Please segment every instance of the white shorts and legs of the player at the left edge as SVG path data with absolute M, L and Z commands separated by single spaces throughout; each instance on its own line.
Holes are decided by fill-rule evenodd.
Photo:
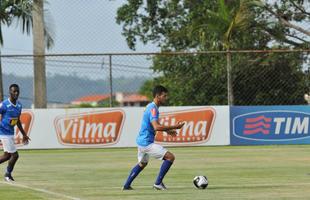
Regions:
M 10 154 L 10 159 L 9 159 L 9 163 L 6 169 L 6 173 L 4 175 L 4 179 L 6 181 L 14 181 L 12 177 L 12 172 L 13 172 L 15 163 L 19 157 L 17 149 L 14 144 L 14 138 L 10 137 L 6 139 L 2 139 L 2 144 L 3 144 L 3 150 L 7 152 L 8 154 Z

